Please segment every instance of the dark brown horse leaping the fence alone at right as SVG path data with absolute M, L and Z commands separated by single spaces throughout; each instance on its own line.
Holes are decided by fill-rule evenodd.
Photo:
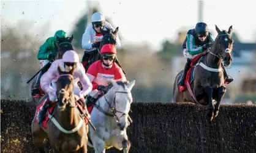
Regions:
M 222 69 L 222 59 L 224 66 L 230 66 L 232 62 L 233 40 L 230 34 L 232 26 L 228 32 L 220 31 L 216 26 L 217 37 L 211 49 L 195 64 L 192 69 L 192 75 L 185 80 L 187 90 L 181 91 L 178 81 L 181 78 L 181 71 L 175 78 L 173 85 L 174 102 L 194 102 L 195 104 L 208 105 L 206 118 L 212 121 L 219 113 L 220 101 L 225 94 L 225 78 Z M 193 61 L 194 62 L 194 61 Z M 189 71 L 187 73 L 189 75 Z M 214 105 L 213 99 L 216 102 Z

